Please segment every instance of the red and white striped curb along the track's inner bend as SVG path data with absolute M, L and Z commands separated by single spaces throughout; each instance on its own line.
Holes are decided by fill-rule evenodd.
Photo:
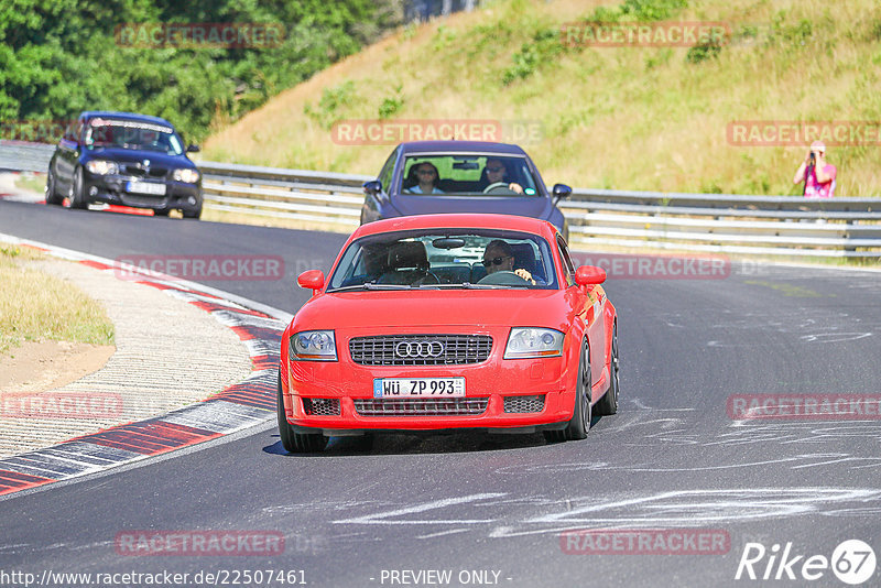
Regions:
M 110 260 L 57 250 L 45 243 L 22 241 L 22 244 L 64 259 L 73 258 L 97 270 L 117 271 Z M 162 277 L 139 279 L 137 283 L 181 298 L 232 329 L 251 357 L 251 375 L 202 402 L 165 415 L 117 425 L 52 447 L 0 459 L 0 496 L 166 454 L 275 416 L 275 368 L 280 357 L 279 341 L 285 327 L 283 320 L 203 292 L 197 284 Z

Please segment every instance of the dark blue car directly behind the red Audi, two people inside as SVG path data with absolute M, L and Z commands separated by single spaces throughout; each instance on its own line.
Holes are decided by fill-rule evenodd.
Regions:
M 420 141 L 398 145 L 377 179 L 365 185 L 361 225 L 436 213 L 499 213 L 551 221 L 567 238 L 556 204 L 572 193 L 548 193 L 539 170 L 516 145 L 478 141 Z

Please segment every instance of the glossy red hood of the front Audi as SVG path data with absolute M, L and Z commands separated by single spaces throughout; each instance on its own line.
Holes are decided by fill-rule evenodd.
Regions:
M 574 318 L 566 298 L 565 291 L 519 288 L 329 293 L 306 303 L 294 328 L 532 326 L 566 331 Z

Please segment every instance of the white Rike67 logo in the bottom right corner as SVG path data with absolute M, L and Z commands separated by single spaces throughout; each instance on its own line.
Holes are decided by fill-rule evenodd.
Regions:
M 761 543 L 747 543 L 740 555 L 735 579 L 814 581 L 833 574 L 842 582 L 858 586 L 871 579 L 875 571 L 874 551 L 860 540 L 841 542 L 831 558 L 825 555 L 796 555 L 792 542 L 781 552 L 775 543 L 770 549 Z

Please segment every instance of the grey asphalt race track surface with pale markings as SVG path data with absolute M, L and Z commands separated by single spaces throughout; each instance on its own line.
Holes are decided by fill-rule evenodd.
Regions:
M 0 202 L 0 232 L 110 259 L 281 255 L 284 280 L 206 283 L 291 313 L 308 297 L 295 275 L 326 271 L 345 240 L 9 202 Z M 325 454 L 303 457 L 285 455 L 268 422 L 0 500 L 0 571 L 168 570 L 189 574 L 186 586 L 224 585 L 193 580 L 224 570 L 229 586 L 244 570 L 292 571 L 287 580 L 326 587 L 846 586 L 830 568 L 803 565 L 831 560 L 845 540 L 881 555 L 877 404 L 864 420 L 738 421 L 727 410 L 738 394 L 881 394 L 881 273 L 732 262 L 724 279 L 612 277 L 606 290 L 620 317 L 621 407 L 595 418 L 585 442 L 335 438 Z M 567 542 L 565 532 L 585 529 L 727 540 L 715 551 L 598 555 L 585 553 L 586 535 Z M 150 530 L 268 532 L 283 535 L 284 548 L 118 553 L 120 534 Z M 757 580 L 743 570 L 735 579 L 746 555 Z M 781 579 L 762 580 L 766 569 Z M 875 569 L 863 585 L 879 584 Z

